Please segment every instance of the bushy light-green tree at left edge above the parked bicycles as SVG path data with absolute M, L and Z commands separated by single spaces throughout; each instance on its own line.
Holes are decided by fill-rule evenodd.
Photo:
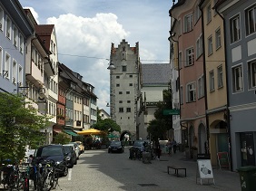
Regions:
M 0 164 L 7 158 L 24 158 L 26 145 L 34 148 L 44 143 L 40 130 L 49 125 L 49 118 L 27 104 L 24 97 L 0 92 Z

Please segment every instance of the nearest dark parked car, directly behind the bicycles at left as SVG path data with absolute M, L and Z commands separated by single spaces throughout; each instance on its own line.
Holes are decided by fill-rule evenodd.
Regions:
M 64 146 L 62 145 L 46 145 L 35 149 L 32 163 L 38 164 L 44 160 L 54 160 L 58 165 L 61 176 L 66 177 L 68 174 L 68 167 L 66 156 L 64 155 Z

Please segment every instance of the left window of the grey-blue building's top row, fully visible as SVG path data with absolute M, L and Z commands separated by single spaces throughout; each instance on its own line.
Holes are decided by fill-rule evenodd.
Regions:
M 240 15 L 237 14 L 230 20 L 231 43 L 237 42 L 241 39 L 240 34 Z

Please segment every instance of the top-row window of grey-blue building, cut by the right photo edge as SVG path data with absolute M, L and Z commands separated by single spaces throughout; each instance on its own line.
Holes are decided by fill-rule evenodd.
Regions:
M 245 10 L 246 35 L 256 32 L 256 5 Z

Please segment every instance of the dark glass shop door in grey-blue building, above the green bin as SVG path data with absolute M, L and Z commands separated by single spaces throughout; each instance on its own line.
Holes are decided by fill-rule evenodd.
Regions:
M 253 133 L 244 132 L 240 134 L 241 139 L 241 166 L 255 166 L 255 153 Z

